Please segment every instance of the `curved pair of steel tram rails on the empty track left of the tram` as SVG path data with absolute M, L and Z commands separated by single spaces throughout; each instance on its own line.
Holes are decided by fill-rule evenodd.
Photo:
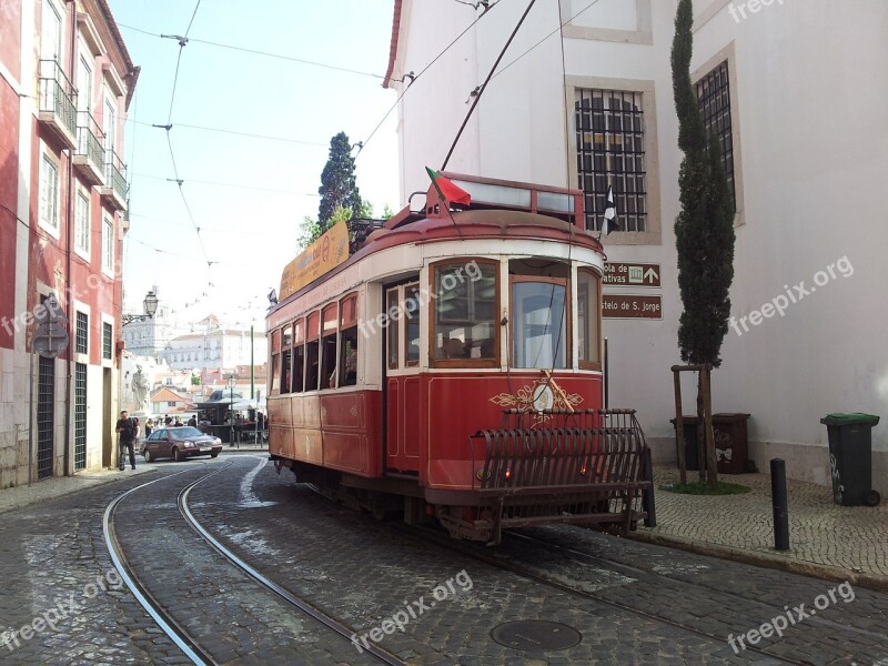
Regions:
M 214 470 L 213 472 L 205 474 L 200 478 L 189 483 L 186 486 L 180 490 L 176 496 L 176 507 L 179 509 L 180 515 L 188 524 L 188 526 L 191 529 L 193 529 L 198 535 L 200 535 L 200 537 L 215 553 L 221 555 L 230 565 L 232 565 L 232 567 L 245 574 L 261 589 L 263 589 L 266 593 L 270 593 L 275 598 L 283 601 L 289 606 L 299 609 L 302 614 L 306 615 L 311 619 L 315 620 L 316 623 L 320 623 L 327 629 L 341 636 L 351 645 L 352 636 L 354 636 L 356 633 L 352 627 L 340 622 L 337 618 L 324 613 L 321 608 L 314 606 L 309 601 L 278 585 L 276 583 L 264 576 L 262 573 L 260 573 L 258 569 L 245 563 L 240 557 L 238 557 L 222 543 L 220 543 L 219 539 L 216 539 L 206 529 L 206 527 L 202 525 L 200 521 L 196 519 L 196 517 L 192 513 L 189 506 L 189 496 L 191 492 L 201 483 L 231 467 L 232 464 L 233 463 L 229 463 L 224 466 L 221 466 Z M 164 605 L 149 592 L 149 588 L 145 585 L 145 583 L 140 579 L 139 575 L 130 565 L 125 556 L 125 553 L 123 552 L 120 539 L 118 538 L 118 533 L 114 528 L 114 513 L 124 498 L 155 483 L 167 481 L 169 478 L 192 471 L 193 470 L 184 470 L 182 472 L 176 472 L 174 474 L 164 476 L 162 478 L 155 478 L 148 483 L 135 486 L 134 488 L 131 488 L 125 493 L 123 493 L 122 495 L 120 495 L 119 497 L 114 498 L 108 505 L 104 512 L 103 535 L 104 535 L 105 547 L 108 548 L 108 552 L 111 556 L 114 567 L 118 569 L 124 585 L 133 594 L 137 602 L 145 609 L 145 612 L 152 617 L 152 619 L 154 619 L 154 622 L 158 624 L 158 627 L 182 650 L 185 657 L 188 657 L 193 664 L 200 666 L 216 666 L 224 662 L 218 660 L 216 658 L 213 657 L 213 655 L 210 653 L 209 649 L 201 646 L 199 640 L 191 635 L 188 627 L 179 623 L 175 619 L 175 617 L 173 617 L 173 615 L 164 607 Z M 377 645 L 371 644 L 364 649 L 364 652 L 367 655 L 371 655 L 377 663 L 389 664 L 390 666 L 404 666 L 406 664 L 405 662 L 400 659 L 396 655 L 385 649 L 382 649 Z

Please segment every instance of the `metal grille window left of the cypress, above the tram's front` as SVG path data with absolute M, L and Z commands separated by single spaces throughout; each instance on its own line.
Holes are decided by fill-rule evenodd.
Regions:
M 577 89 L 574 110 L 579 189 L 586 229 L 598 231 L 614 188 L 619 231 L 647 231 L 643 93 Z

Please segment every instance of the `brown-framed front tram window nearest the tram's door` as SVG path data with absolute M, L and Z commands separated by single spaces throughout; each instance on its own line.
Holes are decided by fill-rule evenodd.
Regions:
M 497 359 L 498 264 L 475 260 L 477 271 L 466 273 L 466 262 L 432 266 L 435 306 L 432 315 L 433 365 L 493 367 Z

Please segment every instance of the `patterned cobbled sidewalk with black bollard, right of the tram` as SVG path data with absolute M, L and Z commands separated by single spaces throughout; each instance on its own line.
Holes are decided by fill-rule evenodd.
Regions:
M 688 481 L 698 478 L 688 472 Z M 888 504 L 838 506 L 833 491 L 787 480 L 789 551 L 774 549 L 767 474 L 719 475 L 749 486 L 743 495 L 700 496 L 660 491 L 678 481 L 675 465 L 655 465 L 657 526 L 632 538 L 888 592 Z

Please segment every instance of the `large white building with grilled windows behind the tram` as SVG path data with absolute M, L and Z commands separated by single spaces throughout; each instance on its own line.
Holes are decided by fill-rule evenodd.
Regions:
M 386 84 L 400 103 L 404 202 L 441 168 L 526 3 L 395 0 Z M 604 322 L 610 406 L 638 408 L 674 460 L 670 365 L 679 363 L 673 225 L 679 210 L 669 53 L 676 0 L 541 0 L 484 90 L 448 171 L 582 186 L 599 224 L 608 182 L 622 230 L 613 262 L 659 264 L 662 319 Z M 888 417 L 882 181 L 888 172 L 884 0 L 695 1 L 693 79 L 719 123 L 736 195 L 735 325 L 713 374 L 714 408 L 748 412 L 759 468 L 830 482 L 830 412 Z M 564 24 L 559 29 L 561 24 Z M 521 57 L 521 58 L 519 58 Z M 405 82 L 401 82 L 404 79 Z M 693 411 L 687 385 L 685 413 Z M 888 493 L 888 427 L 874 430 L 874 485 Z

